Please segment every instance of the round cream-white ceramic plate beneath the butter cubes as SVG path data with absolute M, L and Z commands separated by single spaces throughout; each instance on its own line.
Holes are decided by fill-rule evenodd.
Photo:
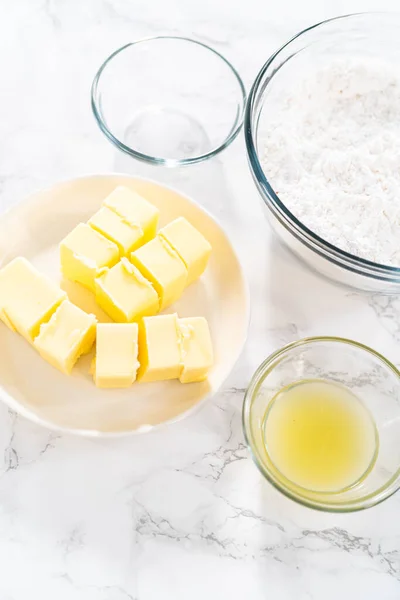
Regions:
M 226 234 L 200 206 L 154 182 L 125 175 L 96 175 L 63 182 L 31 196 L 0 219 L 0 267 L 25 256 L 100 321 L 108 321 L 90 292 L 61 280 L 58 244 L 87 220 L 117 185 L 142 193 L 160 209 L 161 226 L 184 216 L 210 241 L 213 253 L 200 280 L 166 312 L 208 319 L 215 364 L 208 381 L 135 383 L 126 390 L 99 390 L 89 375 L 91 356 L 68 377 L 47 364 L 19 335 L 0 323 L 0 398 L 47 427 L 85 435 L 126 434 L 177 420 L 218 390 L 244 345 L 249 299 L 245 278 Z

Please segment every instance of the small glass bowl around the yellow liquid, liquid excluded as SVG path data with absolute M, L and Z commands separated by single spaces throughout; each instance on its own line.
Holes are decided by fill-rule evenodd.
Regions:
M 379 444 L 365 478 L 339 492 L 307 490 L 287 480 L 272 464 L 263 440 L 270 402 L 284 387 L 306 379 L 338 383 L 353 392 L 372 416 Z M 400 372 L 386 358 L 357 342 L 306 338 L 272 354 L 246 392 L 243 429 L 253 459 L 272 485 L 305 506 L 328 512 L 362 510 L 400 488 Z

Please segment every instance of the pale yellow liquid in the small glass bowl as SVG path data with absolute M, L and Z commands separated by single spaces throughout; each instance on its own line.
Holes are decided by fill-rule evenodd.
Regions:
M 278 392 L 265 414 L 263 435 L 276 469 L 316 492 L 358 483 L 378 449 L 375 424 L 363 403 L 348 389 L 318 379 Z

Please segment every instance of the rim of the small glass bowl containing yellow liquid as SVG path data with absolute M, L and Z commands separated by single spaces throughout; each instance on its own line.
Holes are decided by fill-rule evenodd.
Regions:
M 356 498 L 354 500 L 348 500 L 346 502 L 324 502 L 319 500 L 311 500 L 301 494 L 297 494 L 295 491 L 286 487 L 281 481 L 277 478 L 271 476 L 268 468 L 263 464 L 262 460 L 260 460 L 257 450 L 254 447 L 252 442 L 252 427 L 250 425 L 250 412 L 252 401 L 259 391 L 262 383 L 266 379 L 266 377 L 273 371 L 275 367 L 276 360 L 285 354 L 290 354 L 292 350 L 299 348 L 301 346 L 307 346 L 320 342 L 328 342 L 328 343 L 337 343 L 339 345 L 352 346 L 353 348 L 357 348 L 362 352 L 366 352 L 374 359 L 377 359 L 380 363 L 383 363 L 385 367 L 393 372 L 396 378 L 399 381 L 400 385 L 400 370 L 391 363 L 383 354 L 380 354 L 376 350 L 373 350 L 369 346 L 357 342 L 355 340 L 351 340 L 348 338 L 336 337 L 336 336 L 313 336 L 306 337 L 295 342 L 291 342 L 290 344 L 286 344 L 279 350 L 276 350 L 272 354 L 270 354 L 257 368 L 255 373 L 253 374 L 250 383 L 245 392 L 243 407 L 242 407 L 242 428 L 243 434 L 245 437 L 247 448 L 250 452 L 251 458 L 253 462 L 257 466 L 258 470 L 261 474 L 267 479 L 267 481 L 279 492 L 284 494 L 287 498 L 294 500 L 295 502 L 306 506 L 308 508 L 313 508 L 316 510 L 320 510 L 322 512 L 332 512 L 332 513 L 347 513 L 347 512 L 355 512 L 359 510 L 364 510 L 366 508 L 370 508 L 379 504 L 390 498 L 393 494 L 395 494 L 400 489 L 400 465 L 394 475 L 390 477 L 390 479 L 382 485 L 380 488 L 371 492 L 369 494 L 365 494 L 360 498 Z M 397 481 L 397 483 L 396 483 Z M 394 484 L 394 485 L 393 485 Z M 393 487 L 392 487 L 393 486 Z

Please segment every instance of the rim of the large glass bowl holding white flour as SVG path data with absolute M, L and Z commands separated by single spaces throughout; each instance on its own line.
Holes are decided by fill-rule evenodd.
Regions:
M 279 218 L 283 221 L 283 225 L 286 227 L 286 229 L 289 229 L 292 235 L 299 239 L 313 252 L 316 252 L 323 258 L 327 259 L 329 262 L 339 267 L 342 267 L 348 271 L 359 275 L 361 274 L 365 277 L 369 277 L 374 280 L 381 280 L 390 283 L 400 284 L 400 267 L 393 267 L 378 262 L 370 261 L 368 259 L 356 256 L 355 254 L 346 252 L 341 248 L 338 248 L 334 244 L 331 244 L 327 240 L 317 235 L 314 231 L 309 229 L 287 208 L 287 206 L 280 200 L 278 195 L 275 193 L 272 185 L 268 181 L 261 167 L 261 163 L 258 158 L 258 152 L 256 149 L 258 119 L 254 130 L 252 124 L 255 106 L 257 104 L 260 88 L 263 86 L 264 83 L 265 74 L 267 73 L 268 69 L 273 66 L 275 60 L 279 58 L 280 54 L 285 49 L 290 47 L 290 45 L 293 42 L 295 42 L 297 38 L 306 36 L 309 32 L 313 31 L 314 29 L 322 29 L 325 25 L 331 22 L 336 22 L 340 20 L 350 21 L 351 19 L 357 19 L 360 17 L 376 18 L 377 16 L 386 16 L 390 18 L 395 17 L 397 18 L 397 20 L 399 19 L 398 13 L 393 13 L 389 11 L 358 12 L 347 15 L 341 15 L 338 17 L 325 19 L 324 21 L 320 21 L 319 23 L 316 23 L 314 25 L 311 25 L 310 27 L 303 29 L 302 31 L 294 35 L 292 38 L 290 38 L 287 42 L 285 42 L 285 44 L 283 44 L 280 48 L 278 48 L 278 50 L 276 50 L 261 67 L 250 89 L 244 116 L 244 137 L 250 170 L 253 179 L 256 182 L 256 186 L 260 192 L 260 195 L 268 208 L 271 208 L 270 204 L 272 205 L 272 208 L 275 211 L 274 215 L 277 217 L 276 213 L 278 213 Z M 287 60 L 290 60 L 290 58 L 292 57 L 293 55 L 291 55 Z M 285 62 L 287 62 L 287 60 Z M 276 70 L 276 72 L 278 71 L 279 68 Z M 273 73 L 273 75 L 275 75 L 275 72 Z M 270 81 L 268 81 L 268 83 L 265 85 L 264 89 L 268 87 L 268 85 L 270 85 L 272 79 L 273 76 L 271 77 Z

